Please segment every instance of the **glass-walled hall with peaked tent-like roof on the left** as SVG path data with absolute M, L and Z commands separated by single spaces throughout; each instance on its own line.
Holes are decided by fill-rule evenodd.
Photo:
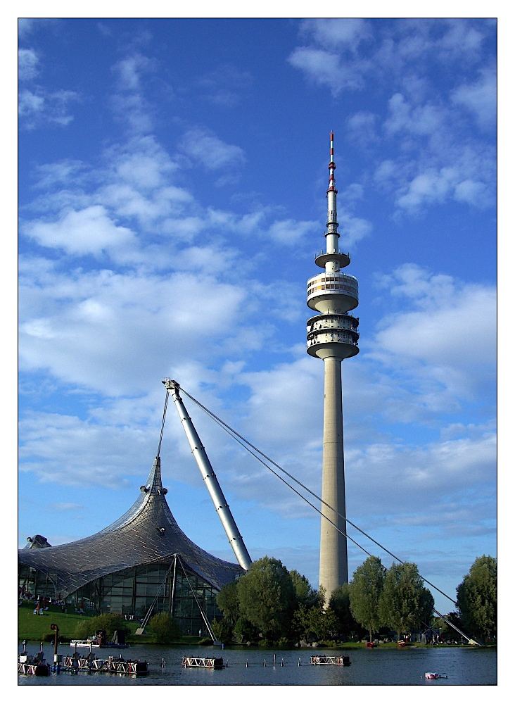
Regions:
M 153 612 L 170 613 L 184 635 L 204 634 L 199 605 L 212 621 L 218 615 L 217 591 L 243 570 L 189 540 L 166 493 L 155 458 L 139 498 L 103 531 L 61 546 L 34 536 L 18 551 L 20 591 L 87 613 L 117 612 L 134 620 L 144 618 L 155 602 Z

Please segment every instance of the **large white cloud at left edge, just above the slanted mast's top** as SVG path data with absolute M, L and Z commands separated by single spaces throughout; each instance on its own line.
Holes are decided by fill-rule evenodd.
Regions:
M 67 384 L 114 395 L 148 389 L 156 373 L 183 358 L 210 365 L 236 349 L 241 356 L 265 334 L 248 338 L 250 294 L 212 273 L 48 271 L 39 279 L 30 272 L 20 272 L 27 302 L 20 310 L 20 365 L 49 370 Z

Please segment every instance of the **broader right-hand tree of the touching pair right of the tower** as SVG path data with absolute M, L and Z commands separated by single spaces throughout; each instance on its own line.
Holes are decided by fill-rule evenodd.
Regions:
M 433 595 L 424 587 L 417 565 L 405 562 L 390 567 L 379 597 L 379 617 L 397 631 L 398 638 L 402 632 L 428 624 L 433 606 Z

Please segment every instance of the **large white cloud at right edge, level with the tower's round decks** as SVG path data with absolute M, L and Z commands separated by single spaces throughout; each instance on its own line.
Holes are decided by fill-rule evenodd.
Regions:
M 405 265 L 383 278 L 383 288 L 412 303 L 383 320 L 374 337 L 373 358 L 411 372 L 409 383 L 422 389 L 428 380 L 440 401 L 455 403 L 481 393 L 495 376 L 495 287 L 463 284 Z M 438 394 L 429 403 L 439 403 Z

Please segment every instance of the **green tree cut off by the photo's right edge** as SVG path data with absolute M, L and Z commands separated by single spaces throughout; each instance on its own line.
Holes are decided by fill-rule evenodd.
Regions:
M 497 560 L 476 558 L 456 590 L 457 605 L 466 629 L 481 639 L 497 635 Z

